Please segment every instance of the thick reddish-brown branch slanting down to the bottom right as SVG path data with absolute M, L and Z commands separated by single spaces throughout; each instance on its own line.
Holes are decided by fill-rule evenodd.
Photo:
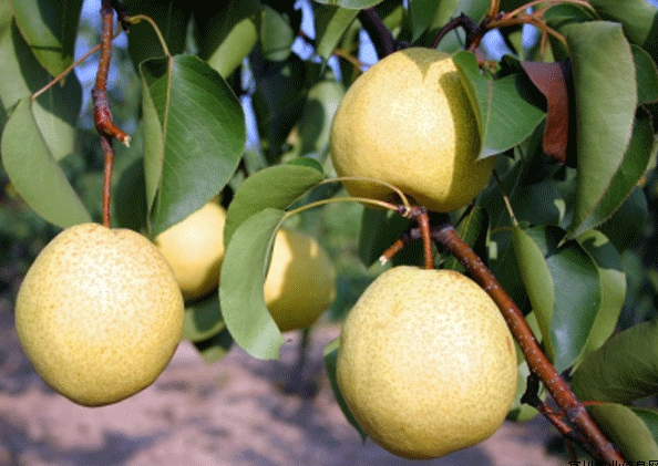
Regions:
M 441 244 L 469 271 L 470 276 L 492 297 L 510 327 L 512 334 L 527 361 L 531 371 L 544 383 L 567 420 L 587 441 L 587 447 L 595 457 L 609 465 L 624 464 L 624 458 L 605 437 L 578 401 L 565 380 L 546 358 L 537 343 L 527 321 L 512 298 L 505 292 L 482 259 L 464 242 L 449 221 L 432 229 L 432 239 Z M 554 416 L 553 416 L 554 417 Z M 552 416 L 548 417 L 551 421 Z

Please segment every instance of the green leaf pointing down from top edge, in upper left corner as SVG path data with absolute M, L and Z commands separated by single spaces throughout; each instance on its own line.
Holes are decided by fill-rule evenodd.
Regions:
M 73 63 L 82 0 L 12 0 L 16 22 L 29 48 L 56 76 Z

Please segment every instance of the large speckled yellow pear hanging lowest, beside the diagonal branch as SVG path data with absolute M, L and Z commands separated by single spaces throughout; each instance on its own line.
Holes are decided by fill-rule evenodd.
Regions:
M 402 457 L 439 457 L 490 437 L 516 377 L 514 340 L 496 304 L 455 271 L 383 272 L 341 331 L 340 392 L 363 431 Z

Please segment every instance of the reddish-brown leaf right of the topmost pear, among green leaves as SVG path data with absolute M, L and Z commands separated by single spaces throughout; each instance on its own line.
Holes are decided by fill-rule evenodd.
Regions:
M 566 62 L 522 62 L 525 73 L 547 102 L 544 152 L 559 163 L 566 160 L 569 134 L 569 95 Z

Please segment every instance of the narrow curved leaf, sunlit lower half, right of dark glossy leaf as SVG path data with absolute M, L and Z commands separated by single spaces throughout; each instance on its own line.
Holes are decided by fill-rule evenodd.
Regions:
M 592 324 L 587 343 L 575 366 L 587 354 L 606 342 L 615 331 L 626 298 L 626 275 L 621 257 L 613 244 L 599 231 L 590 230 L 577 238 L 584 251 L 596 265 L 600 302 Z

